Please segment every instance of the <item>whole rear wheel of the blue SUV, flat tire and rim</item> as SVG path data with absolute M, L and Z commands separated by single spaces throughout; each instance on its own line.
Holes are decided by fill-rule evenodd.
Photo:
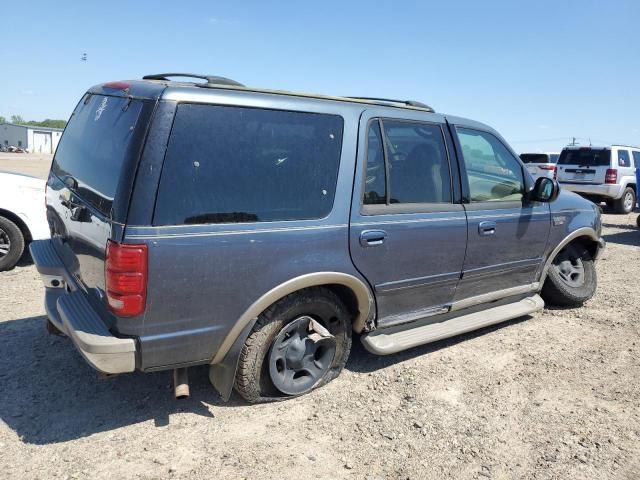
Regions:
M 250 403 L 281 400 L 322 386 L 351 350 L 351 318 L 331 290 L 314 287 L 278 301 L 256 322 L 238 363 L 235 389 Z

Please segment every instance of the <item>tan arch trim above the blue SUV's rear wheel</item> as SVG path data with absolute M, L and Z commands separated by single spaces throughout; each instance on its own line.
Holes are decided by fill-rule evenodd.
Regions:
M 222 341 L 211 364 L 221 363 L 247 325 L 278 300 L 305 288 L 336 284 L 343 285 L 354 293 L 358 304 L 358 313 L 353 321 L 353 331 L 361 332 L 364 330 L 365 323 L 370 315 L 375 311 L 373 294 L 364 281 L 342 272 L 308 273 L 281 283 L 253 302 L 238 318 L 231 331 Z

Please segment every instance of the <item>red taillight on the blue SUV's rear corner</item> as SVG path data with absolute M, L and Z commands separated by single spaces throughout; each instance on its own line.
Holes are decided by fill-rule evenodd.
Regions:
M 147 302 L 147 246 L 107 242 L 105 260 L 107 302 L 120 317 L 144 312 Z

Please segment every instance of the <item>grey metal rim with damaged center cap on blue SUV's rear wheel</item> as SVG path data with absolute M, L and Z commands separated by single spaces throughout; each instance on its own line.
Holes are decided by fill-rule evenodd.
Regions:
M 287 324 L 269 353 L 269 376 L 287 395 L 311 390 L 327 373 L 336 353 L 336 339 L 308 315 Z

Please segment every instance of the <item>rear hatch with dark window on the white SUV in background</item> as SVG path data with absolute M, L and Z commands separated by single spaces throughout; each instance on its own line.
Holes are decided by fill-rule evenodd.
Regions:
M 558 159 L 558 181 L 601 185 L 611 165 L 607 148 L 565 148 Z

